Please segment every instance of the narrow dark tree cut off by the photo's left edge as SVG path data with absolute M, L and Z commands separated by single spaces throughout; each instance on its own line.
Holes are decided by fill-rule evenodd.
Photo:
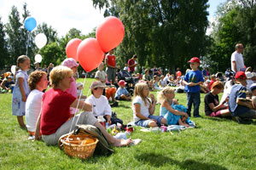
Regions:
M 0 17 L 0 69 L 3 69 L 8 64 L 9 54 L 7 50 L 7 42 L 4 32 L 4 27 Z

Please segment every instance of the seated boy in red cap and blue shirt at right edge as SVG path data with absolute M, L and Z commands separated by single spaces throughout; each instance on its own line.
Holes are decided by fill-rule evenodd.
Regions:
M 247 96 L 247 77 L 243 71 L 236 72 L 236 84 L 230 92 L 229 109 L 231 116 L 235 116 L 237 122 L 243 118 L 256 118 L 252 102 L 244 102 Z

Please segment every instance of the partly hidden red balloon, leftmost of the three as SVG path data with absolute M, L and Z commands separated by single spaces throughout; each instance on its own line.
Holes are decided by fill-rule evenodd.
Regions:
M 78 61 L 78 56 L 77 56 L 77 50 L 79 47 L 79 44 L 82 42 L 79 38 L 73 38 L 69 42 L 67 42 L 66 46 L 66 54 L 67 58 L 73 58 L 76 61 Z

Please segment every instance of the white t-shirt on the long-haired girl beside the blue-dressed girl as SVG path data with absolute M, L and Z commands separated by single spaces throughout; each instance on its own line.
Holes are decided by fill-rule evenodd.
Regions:
M 149 98 L 148 98 L 149 99 Z M 150 102 L 151 102 L 151 99 L 149 99 Z M 145 105 L 143 99 L 140 97 L 140 96 L 136 96 L 133 100 L 132 100 L 132 111 L 133 111 L 133 121 L 134 122 L 138 122 L 139 120 L 141 120 L 140 118 L 138 118 L 136 115 L 135 115 L 135 107 L 134 107 L 134 104 L 139 104 L 141 105 L 141 109 L 140 109 L 140 112 L 143 116 L 146 116 L 148 117 L 149 116 L 149 103 L 147 101 L 147 105 Z

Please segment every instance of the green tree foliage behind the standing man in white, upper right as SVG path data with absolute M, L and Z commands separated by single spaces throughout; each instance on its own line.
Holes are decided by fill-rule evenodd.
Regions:
M 245 65 L 256 67 L 256 5 L 253 0 L 233 0 L 218 8 L 210 57 L 218 63 L 218 71 L 230 67 L 230 57 L 236 43 L 245 46 L 243 58 Z

